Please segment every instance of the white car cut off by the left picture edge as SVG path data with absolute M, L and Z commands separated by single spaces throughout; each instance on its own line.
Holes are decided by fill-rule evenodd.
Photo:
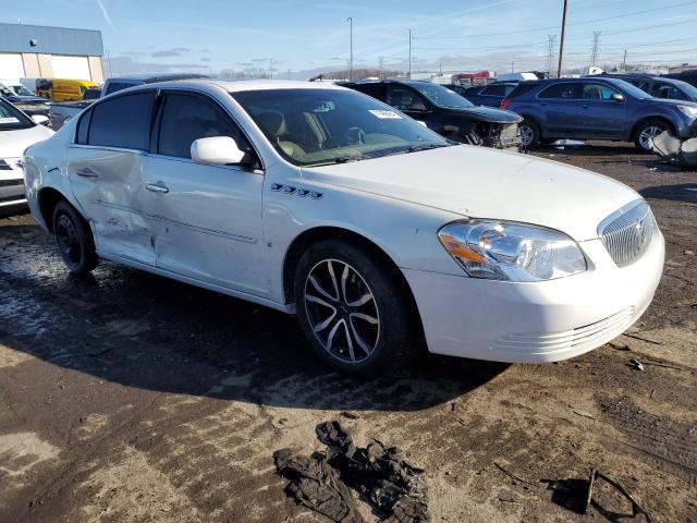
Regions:
M 0 100 L 0 217 L 26 208 L 24 175 L 20 165 L 29 145 L 48 138 L 53 131 L 41 123 L 48 118 L 29 118 L 11 104 Z

